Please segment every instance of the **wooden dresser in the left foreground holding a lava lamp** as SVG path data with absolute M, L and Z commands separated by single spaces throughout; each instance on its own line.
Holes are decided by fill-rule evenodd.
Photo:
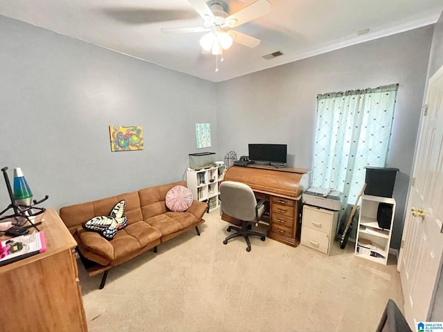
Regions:
M 0 330 L 87 331 L 77 243 L 55 210 L 46 210 L 35 222 L 42 218 L 37 227 L 44 231 L 46 252 L 0 267 Z

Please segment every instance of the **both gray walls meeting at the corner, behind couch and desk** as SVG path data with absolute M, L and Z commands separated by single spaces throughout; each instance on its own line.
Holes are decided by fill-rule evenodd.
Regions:
M 188 154 L 222 160 L 249 142 L 286 143 L 291 164 L 311 168 L 318 93 L 399 83 L 388 159 L 401 170 L 399 248 L 432 26 L 218 84 L 1 16 L 0 31 L 0 167 L 11 180 L 21 167 L 53 208 L 180 180 Z M 196 149 L 195 122 L 211 124 L 213 147 Z M 143 126 L 145 149 L 111 152 L 109 124 Z

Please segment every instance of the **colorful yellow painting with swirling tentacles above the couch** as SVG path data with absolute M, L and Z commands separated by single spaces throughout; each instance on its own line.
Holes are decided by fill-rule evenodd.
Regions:
M 143 150 L 143 129 L 139 126 L 109 126 L 111 151 Z

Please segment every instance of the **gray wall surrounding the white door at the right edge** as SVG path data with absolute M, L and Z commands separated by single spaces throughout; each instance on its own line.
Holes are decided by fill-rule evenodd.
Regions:
M 440 15 L 434 28 L 432 39 L 431 56 L 429 57 L 428 79 L 443 66 L 443 14 Z M 440 281 L 437 284 L 435 302 L 431 311 L 432 322 L 443 321 L 443 266 L 440 271 Z

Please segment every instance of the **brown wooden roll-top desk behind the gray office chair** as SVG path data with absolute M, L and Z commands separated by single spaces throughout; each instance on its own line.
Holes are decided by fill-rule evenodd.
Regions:
M 267 237 L 296 247 L 300 243 L 301 194 L 311 182 L 309 169 L 248 165 L 229 167 L 225 181 L 246 183 L 257 199 L 270 202 Z M 237 223 L 223 214 L 221 219 Z

